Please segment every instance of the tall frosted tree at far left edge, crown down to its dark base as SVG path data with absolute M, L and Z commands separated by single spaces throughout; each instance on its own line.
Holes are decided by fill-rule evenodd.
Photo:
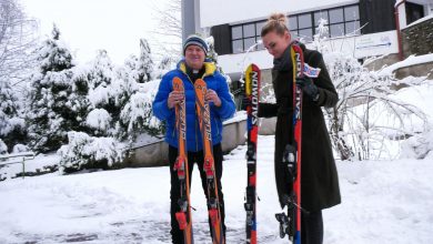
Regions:
M 26 142 L 23 100 L 36 21 L 27 19 L 17 0 L 0 0 L 0 148 Z M 0 151 L 4 151 L 1 150 Z

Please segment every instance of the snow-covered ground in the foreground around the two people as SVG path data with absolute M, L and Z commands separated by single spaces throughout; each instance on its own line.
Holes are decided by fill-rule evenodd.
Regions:
M 273 136 L 259 139 L 260 243 L 278 237 Z M 245 148 L 225 155 L 228 243 L 243 243 Z M 433 163 L 338 162 L 343 203 L 324 211 L 326 244 L 433 243 Z M 211 243 L 194 169 L 195 243 Z M 124 169 L 0 182 L 0 243 L 169 243 L 169 169 Z

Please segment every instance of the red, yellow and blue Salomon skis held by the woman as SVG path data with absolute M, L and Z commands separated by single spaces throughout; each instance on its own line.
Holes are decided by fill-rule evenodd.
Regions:
M 302 140 L 302 90 L 295 84 L 304 75 L 303 52 L 299 44 L 291 44 L 293 63 L 293 143 L 288 144 L 282 163 L 286 165 L 292 191 L 283 197 L 288 213 L 275 214 L 280 223 L 280 237 L 285 235 L 294 244 L 301 244 L 301 140 Z M 246 211 L 246 243 L 256 243 L 256 146 L 259 131 L 260 69 L 250 64 L 245 72 L 246 105 L 246 167 L 248 182 L 244 207 Z

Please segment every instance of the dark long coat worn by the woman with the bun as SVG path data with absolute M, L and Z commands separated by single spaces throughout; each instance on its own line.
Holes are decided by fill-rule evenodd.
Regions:
M 302 170 L 301 205 L 308 211 L 319 211 L 341 202 L 338 172 L 332 154 L 331 141 L 321 106 L 334 106 L 339 95 L 332 84 L 322 54 L 304 50 L 304 61 L 313 68 L 320 68 L 319 78 L 313 79 L 319 88 L 319 101 L 313 102 L 304 95 L 302 103 Z M 272 83 L 276 104 L 260 103 L 259 116 L 276 116 L 274 167 L 276 189 L 280 196 L 291 191 L 286 166 L 282 163 L 285 145 L 291 141 L 293 128 L 293 64 L 290 47 L 281 59 L 274 60 Z M 283 204 L 282 204 L 283 205 Z

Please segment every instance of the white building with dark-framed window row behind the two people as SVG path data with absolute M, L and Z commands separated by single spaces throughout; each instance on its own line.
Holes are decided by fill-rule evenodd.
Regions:
M 239 80 L 250 62 L 272 68 L 272 57 L 256 43 L 273 12 L 285 13 L 292 35 L 308 47 L 319 20 L 326 20 L 330 47 L 362 60 L 399 53 L 399 30 L 433 14 L 433 0 L 182 0 L 182 12 L 189 12 L 182 18 L 193 24 L 190 31 L 213 35 L 219 64 Z

